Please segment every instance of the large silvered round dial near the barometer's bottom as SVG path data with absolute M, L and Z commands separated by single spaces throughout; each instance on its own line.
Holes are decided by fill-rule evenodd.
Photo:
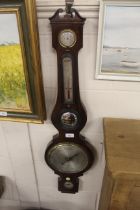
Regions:
M 49 165 L 61 173 L 79 173 L 88 165 L 88 155 L 78 144 L 59 143 L 50 149 Z

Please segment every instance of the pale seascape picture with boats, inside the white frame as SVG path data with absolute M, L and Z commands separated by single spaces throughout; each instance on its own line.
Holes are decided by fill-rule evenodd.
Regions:
M 101 71 L 140 74 L 140 6 L 106 6 Z

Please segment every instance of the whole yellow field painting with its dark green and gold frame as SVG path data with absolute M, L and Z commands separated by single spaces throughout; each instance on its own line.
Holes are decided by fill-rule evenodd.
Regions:
M 35 0 L 0 0 L 0 120 L 46 118 Z

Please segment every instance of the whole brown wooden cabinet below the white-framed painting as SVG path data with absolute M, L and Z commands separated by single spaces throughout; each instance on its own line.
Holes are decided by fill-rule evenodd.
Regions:
M 140 210 L 140 121 L 105 118 L 104 135 L 99 210 Z

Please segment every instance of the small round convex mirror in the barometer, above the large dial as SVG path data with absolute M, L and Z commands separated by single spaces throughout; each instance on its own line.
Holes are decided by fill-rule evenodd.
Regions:
M 74 127 L 77 124 L 77 116 L 72 112 L 65 112 L 61 116 L 61 122 L 63 125 Z

